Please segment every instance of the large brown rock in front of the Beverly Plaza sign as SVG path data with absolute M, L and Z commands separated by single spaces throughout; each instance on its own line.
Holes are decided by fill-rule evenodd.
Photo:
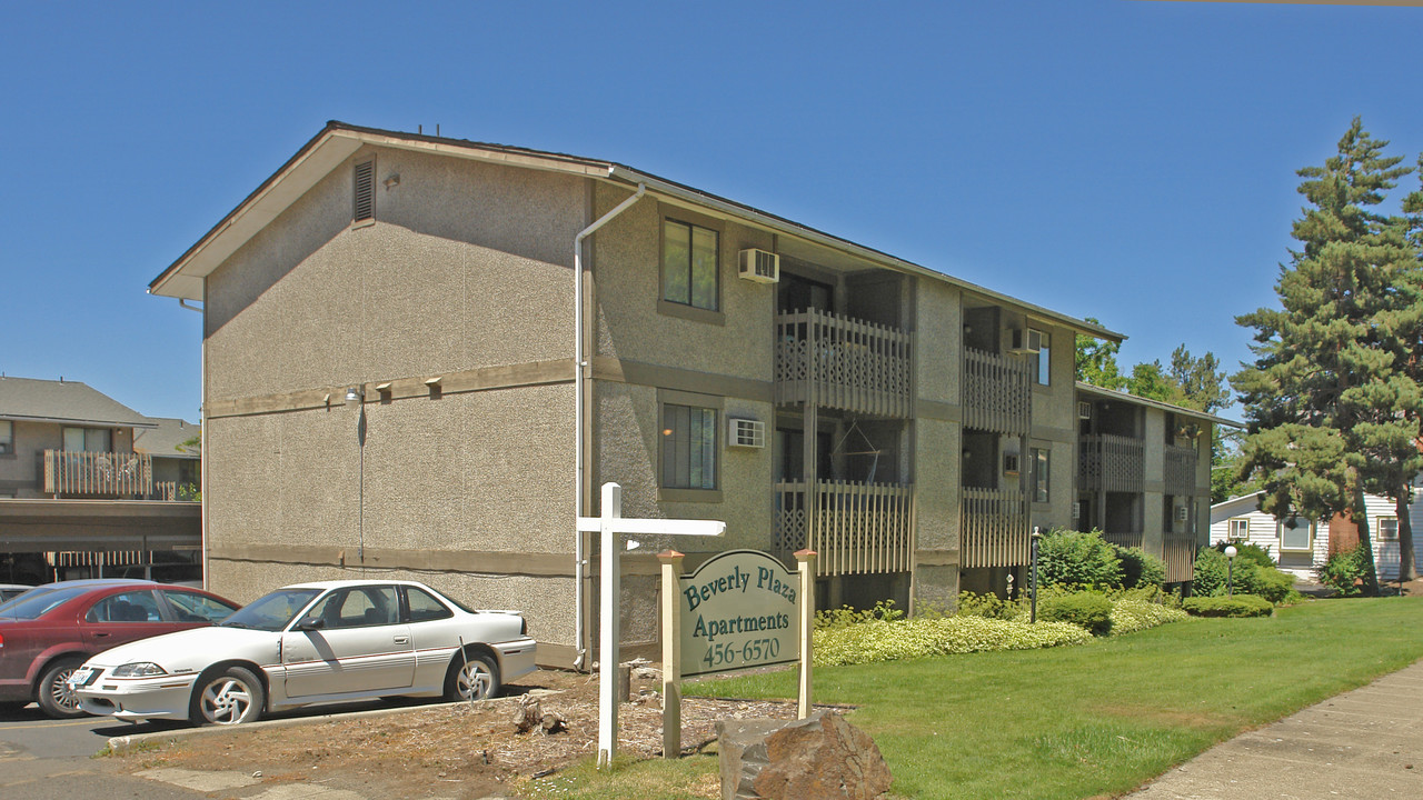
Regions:
M 716 723 L 721 800 L 872 800 L 889 767 L 862 730 L 834 712 Z

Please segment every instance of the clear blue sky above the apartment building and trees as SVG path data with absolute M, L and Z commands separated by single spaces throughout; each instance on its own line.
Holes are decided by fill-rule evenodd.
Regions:
M 198 419 L 145 293 L 327 120 L 629 164 L 1234 370 L 1295 169 L 1423 149 L 1423 9 L 0 0 L 0 370 Z M 1395 192 L 1417 188 L 1409 177 Z

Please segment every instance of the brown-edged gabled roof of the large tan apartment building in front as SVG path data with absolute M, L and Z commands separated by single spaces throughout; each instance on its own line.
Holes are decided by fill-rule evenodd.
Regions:
M 296 202 L 296 199 L 300 198 L 307 189 L 314 186 L 317 181 L 324 178 L 332 169 L 343 164 L 346 158 L 367 144 L 505 164 L 529 169 L 583 175 L 626 188 L 633 188 L 642 184 L 646 185 L 649 194 L 657 196 L 663 202 L 724 215 L 739 219 L 747 225 L 768 229 L 787 236 L 790 241 L 783 241 L 783 249 L 787 246 L 795 248 L 797 243 L 828 248 L 834 253 L 842 253 L 847 260 L 858 262 L 862 259 L 896 272 L 941 280 L 985 299 L 1023 309 L 1030 317 L 1054 322 L 1089 336 L 1109 339 L 1113 342 L 1121 342 L 1126 339 L 1124 335 L 1109 330 L 1100 325 L 1044 309 L 1017 298 L 969 283 L 968 280 L 961 280 L 914 262 L 891 256 L 874 248 L 858 245 L 832 233 L 825 233 L 824 231 L 800 225 L 783 216 L 777 216 L 684 184 L 659 178 L 649 172 L 613 161 L 490 142 L 475 142 L 470 140 L 453 140 L 423 134 L 384 131 L 380 128 L 364 128 L 339 121 L 327 122 L 326 127 L 316 134 L 316 137 L 307 141 L 296 152 L 296 155 L 287 159 L 287 162 L 263 181 L 256 191 L 248 195 L 246 199 L 223 216 L 211 231 L 208 231 L 208 233 L 188 248 L 188 251 L 179 256 L 178 260 L 155 278 L 148 285 L 148 292 L 166 298 L 201 300 L 203 278 L 211 275 L 212 270 L 215 270 L 228 256 L 236 252 L 238 248 L 262 231 L 269 222 L 276 219 L 277 215 L 286 211 L 286 208 Z M 572 242 L 569 242 L 569 248 L 572 248 Z M 828 266 L 840 265 L 832 263 Z

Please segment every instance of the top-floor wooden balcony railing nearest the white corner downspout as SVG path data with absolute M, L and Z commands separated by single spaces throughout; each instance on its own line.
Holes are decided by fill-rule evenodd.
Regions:
M 776 401 L 908 417 L 909 335 L 815 309 L 780 315 Z

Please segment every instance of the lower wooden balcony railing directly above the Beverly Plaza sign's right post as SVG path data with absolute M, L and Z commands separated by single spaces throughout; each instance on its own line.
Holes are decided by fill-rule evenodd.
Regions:
M 776 544 L 784 552 L 820 554 L 815 574 L 908 572 L 914 487 L 817 481 L 776 484 Z

